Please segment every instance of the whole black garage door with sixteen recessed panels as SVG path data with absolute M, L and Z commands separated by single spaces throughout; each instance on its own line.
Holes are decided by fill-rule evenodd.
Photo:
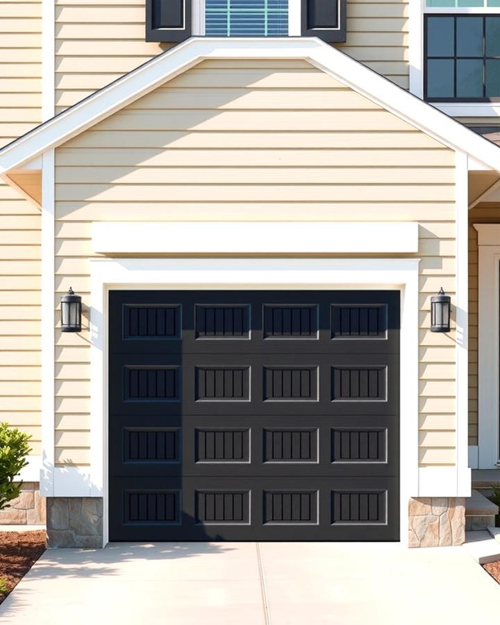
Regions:
M 399 540 L 399 292 L 109 310 L 110 540 Z

